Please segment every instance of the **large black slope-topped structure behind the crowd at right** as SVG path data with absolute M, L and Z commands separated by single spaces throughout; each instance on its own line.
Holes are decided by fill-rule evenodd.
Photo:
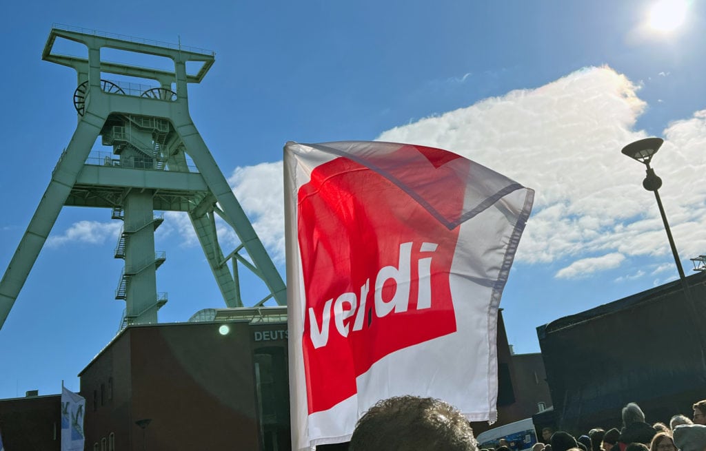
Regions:
M 706 273 L 686 283 L 703 311 Z M 690 414 L 706 389 L 706 329 L 693 328 L 690 311 L 675 280 L 539 326 L 556 427 L 620 428 L 628 402 L 638 402 L 651 423 Z

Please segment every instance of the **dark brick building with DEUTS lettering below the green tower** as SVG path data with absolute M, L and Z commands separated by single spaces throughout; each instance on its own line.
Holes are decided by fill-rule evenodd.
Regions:
M 289 449 L 287 324 L 218 311 L 128 327 L 88 364 L 87 450 Z

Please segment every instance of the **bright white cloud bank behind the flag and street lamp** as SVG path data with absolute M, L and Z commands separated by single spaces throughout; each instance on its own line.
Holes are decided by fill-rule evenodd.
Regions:
M 615 268 L 626 257 L 669 261 L 654 196 L 642 188 L 645 168 L 620 152 L 645 137 L 634 130 L 647 107 L 638 92 L 638 85 L 611 68 L 585 68 L 537 89 L 393 128 L 378 140 L 448 149 L 532 187 L 534 210 L 518 262 L 575 260 L 556 274 L 568 278 Z M 669 124 L 664 137 L 652 167 L 664 180 L 660 194 L 676 244 L 685 257 L 703 254 L 706 110 Z M 270 255 L 284 261 L 282 162 L 236 168 L 229 183 Z M 195 245 L 188 217 L 177 216 L 177 230 Z M 224 224 L 218 228 L 224 250 L 237 243 Z

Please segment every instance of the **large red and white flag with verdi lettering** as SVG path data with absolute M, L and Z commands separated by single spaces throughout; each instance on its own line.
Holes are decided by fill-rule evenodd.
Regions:
M 292 449 L 395 395 L 495 421 L 498 305 L 534 192 L 451 152 L 285 146 Z

